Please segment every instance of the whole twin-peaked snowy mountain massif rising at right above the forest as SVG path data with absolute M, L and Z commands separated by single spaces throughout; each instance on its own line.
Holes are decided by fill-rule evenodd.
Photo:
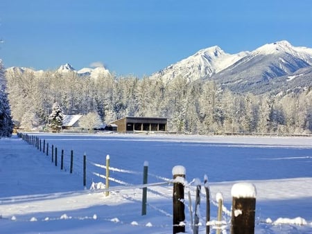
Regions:
M 225 53 L 220 47 L 203 49 L 176 64 L 150 76 L 170 82 L 178 76 L 195 80 L 215 80 L 222 87 L 232 91 L 262 93 L 272 91 L 277 83 L 280 86 L 297 85 L 298 82 L 287 82 L 300 69 L 312 66 L 312 48 L 292 46 L 287 41 L 265 44 L 251 52 L 234 55 Z M 305 71 L 305 70 L 304 70 Z M 304 84 L 311 86 L 311 73 L 304 75 Z M 295 87 L 293 87 L 295 89 Z

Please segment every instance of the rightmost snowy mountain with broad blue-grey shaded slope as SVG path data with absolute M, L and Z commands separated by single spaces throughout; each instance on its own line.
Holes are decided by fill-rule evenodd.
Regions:
M 259 93 L 261 86 L 272 89 L 276 78 L 291 75 L 312 65 L 312 53 L 286 41 L 266 44 L 212 78 L 232 91 Z

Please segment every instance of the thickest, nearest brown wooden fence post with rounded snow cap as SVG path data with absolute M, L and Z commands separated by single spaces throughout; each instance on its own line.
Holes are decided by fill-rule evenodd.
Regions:
M 232 194 L 232 234 L 253 234 L 256 188 L 252 183 L 235 183 Z

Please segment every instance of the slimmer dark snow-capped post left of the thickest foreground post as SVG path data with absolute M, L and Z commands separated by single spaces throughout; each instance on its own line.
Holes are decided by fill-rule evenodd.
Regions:
M 182 165 L 175 165 L 173 174 L 173 234 L 185 233 L 184 182 L 186 170 Z

